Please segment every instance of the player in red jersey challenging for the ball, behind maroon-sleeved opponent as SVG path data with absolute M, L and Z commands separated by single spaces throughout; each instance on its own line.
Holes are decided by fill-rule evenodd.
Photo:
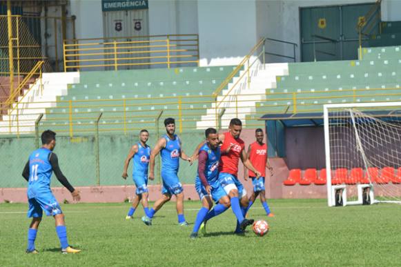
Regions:
M 239 138 L 241 131 L 242 121 L 235 118 L 231 119 L 230 125 L 228 126 L 228 132 L 219 135 L 219 141 L 222 143 L 222 146 L 220 147 L 222 157 L 219 164 L 219 183 L 226 191 L 228 197 L 230 197 L 231 208 L 238 220 L 235 233 L 243 233 L 246 226 L 253 224 L 253 219 L 245 218 L 246 210 L 248 210 L 248 197 L 244 186 L 242 186 L 237 178 L 239 159 L 242 160 L 242 163 L 246 168 L 255 172 L 256 177 L 260 177 L 260 173 L 253 167 L 251 161 L 246 157 L 244 141 Z M 194 156 L 198 154 L 199 148 L 203 146 L 203 144 L 203 142 L 202 144 L 199 144 L 197 150 L 195 150 Z M 218 215 L 218 212 L 215 212 L 215 210 L 211 210 L 209 213 L 210 214 L 206 215 L 204 224 L 201 226 L 203 232 L 206 221 Z

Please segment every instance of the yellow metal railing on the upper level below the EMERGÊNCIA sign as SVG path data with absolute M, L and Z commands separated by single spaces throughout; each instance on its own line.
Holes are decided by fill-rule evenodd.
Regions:
M 64 71 L 121 70 L 199 65 L 198 34 L 69 39 L 63 43 Z

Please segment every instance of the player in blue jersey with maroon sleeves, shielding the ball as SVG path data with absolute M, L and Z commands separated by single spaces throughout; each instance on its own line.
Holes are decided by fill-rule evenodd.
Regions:
M 213 207 L 213 201 L 217 204 L 214 210 L 218 210 L 219 214 L 230 208 L 230 199 L 219 184 L 219 135 L 215 128 L 206 129 L 205 135 L 206 143 L 199 149 L 195 178 L 195 189 L 202 201 L 202 208 L 197 213 L 190 239 L 196 239 L 199 227 Z

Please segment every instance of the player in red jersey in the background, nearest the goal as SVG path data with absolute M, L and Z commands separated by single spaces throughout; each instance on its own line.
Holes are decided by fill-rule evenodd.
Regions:
M 253 194 L 249 198 L 248 209 L 251 208 L 253 202 L 257 196 L 260 196 L 260 201 L 262 202 L 262 206 L 266 211 L 266 215 L 268 217 L 274 217 L 273 213 L 270 211 L 268 204 L 266 202 L 265 190 L 264 190 L 264 177 L 266 177 L 266 168 L 268 168 L 270 172 L 270 176 L 273 176 L 273 168 L 270 166 L 267 157 L 267 144 L 263 143 L 264 134 L 263 130 L 258 128 L 255 131 L 256 141 L 253 142 L 248 147 L 247 159 L 251 161 L 253 166 L 255 166 L 256 170 L 260 172 L 260 177 L 257 178 L 255 172 L 252 170 L 248 170 L 246 167 L 244 168 L 244 179 L 248 181 L 246 177 L 252 179 L 253 184 Z

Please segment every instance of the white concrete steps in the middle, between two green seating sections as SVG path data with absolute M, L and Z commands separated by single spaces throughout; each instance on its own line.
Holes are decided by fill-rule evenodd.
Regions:
M 231 90 L 242 75 L 244 75 L 243 79 Z M 217 97 L 217 112 L 225 108 L 222 127 L 228 127 L 228 123 L 233 117 L 244 120 L 246 114 L 255 112 L 255 103 L 265 99 L 266 88 L 276 87 L 278 75 L 288 75 L 288 63 L 265 64 L 251 68 L 251 83 L 248 88 L 247 75 L 244 70 L 241 70 L 238 77 L 235 77 L 228 84 L 227 89 L 222 90 L 221 95 Z M 197 122 L 197 129 L 215 126 L 216 119 L 216 103 L 212 103 L 211 108 L 206 111 L 206 115 L 203 115 L 202 119 Z M 244 126 L 246 126 L 245 120 Z

